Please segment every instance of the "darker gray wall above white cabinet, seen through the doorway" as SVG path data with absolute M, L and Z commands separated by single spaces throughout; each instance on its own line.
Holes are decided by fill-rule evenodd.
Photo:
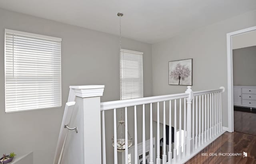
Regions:
M 233 49 L 233 84 L 256 86 L 256 46 Z

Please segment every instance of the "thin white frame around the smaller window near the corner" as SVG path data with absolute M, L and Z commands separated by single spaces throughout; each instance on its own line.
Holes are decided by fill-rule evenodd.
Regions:
M 121 54 L 122 52 L 125 51 L 125 52 L 130 52 L 130 53 L 134 53 L 134 54 L 138 54 L 138 55 L 142 55 L 142 62 L 141 62 L 141 66 L 142 66 L 142 97 L 144 97 L 144 85 L 143 85 L 143 52 L 140 52 L 140 51 L 132 51 L 132 50 L 129 50 L 129 49 L 120 49 L 120 100 L 128 100 L 128 99 L 122 99 L 122 81 L 121 81 Z M 131 99 L 138 99 L 138 98 L 142 98 L 142 97 L 136 97 L 136 98 L 131 98 Z

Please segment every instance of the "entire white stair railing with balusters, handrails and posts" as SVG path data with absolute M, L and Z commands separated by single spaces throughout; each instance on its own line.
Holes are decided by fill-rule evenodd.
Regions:
M 128 164 L 128 126 L 134 122 L 134 153 L 138 155 L 138 137 L 142 138 L 142 162 L 146 163 L 146 112 L 150 112 L 150 164 L 184 163 L 192 156 L 200 152 L 205 146 L 218 138 L 225 130 L 222 130 L 222 92 L 220 89 L 193 92 L 191 87 L 185 93 L 144 97 L 138 99 L 109 101 L 100 103 L 100 96 L 104 91 L 103 85 L 70 86 L 70 95 L 66 104 L 60 135 L 54 157 L 54 164 L 66 164 L 69 160 L 74 162 L 74 156 L 69 151 L 76 152 L 76 163 L 108 164 L 106 147 L 106 131 L 114 125 L 114 164 L 118 164 L 117 151 L 117 122 L 116 113 L 118 110 L 125 110 L 125 163 Z M 74 102 L 76 101 L 76 102 Z M 157 111 L 157 128 L 153 129 L 153 110 Z M 73 110 L 74 109 L 74 110 Z M 133 118 L 128 118 L 128 111 L 134 110 Z M 160 109 L 163 111 L 160 115 Z M 106 112 L 113 112 L 113 124 L 105 124 Z M 142 118 L 137 118 L 138 110 L 142 110 Z M 100 113 L 101 111 L 101 113 Z M 166 115 L 169 111 L 169 115 Z M 100 117 L 102 117 L 100 119 Z M 169 117 L 169 118 L 168 118 Z M 172 117 L 174 123 L 172 124 Z M 163 118 L 163 119 L 162 119 Z M 142 119 L 142 125 L 137 119 Z M 160 120 L 161 119 L 161 120 Z M 166 122 L 169 119 L 169 122 Z M 100 126 L 100 121 L 102 124 Z M 92 128 L 91 124 L 94 123 Z M 78 128 L 78 133 L 67 131 L 66 124 Z M 163 126 L 160 126 L 162 124 Z M 166 150 L 166 124 L 169 125 L 169 149 Z M 64 126 L 65 125 L 65 126 Z M 130 124 L 129 124 L 130 125 Z M 138 136 L 137 125 L 142 126 L 142 136 Z M 174 134 L 172 135 L 172 126 Z M 163 128 L 161 130 L 160 128 Z M 71 128 L 70 130 L 72 130 Z M 177 131 L 178 130 L 178 131 Z M 156 136 L 153 136 L 153 131 Z M 160 131 L 163 133 L 163 151 L 160 154 Z M 100 137 L 100 132 L 102 136 Z M 178 132 L 178 136 L 177 136 Z M 172 136 L 174 136 L 172 138 Z M 130 136 L 129 136 L 130 137 Z M 157 138 L 156 154 L 154 154 L 153 137 Z M 99 140 L 102 141 L 100 144 Z M 172 140 L 174 143 L 172 144 Z M 182 144 L 183 142 L 183 144 Z M 93 151 L 92 151 L 93 149 Z M 82 151 L 81 151 L 82 150 Z M 97 153 L 102 151 L 101 153 Z M 62 155 L 63 154 L 63 155 Z M 156 159 L 154 156 L 156 155 Z M 79 158 L 78 158 L 79 157 Z M 138 164 L 138 156 L 134 158 L 134 164 Z

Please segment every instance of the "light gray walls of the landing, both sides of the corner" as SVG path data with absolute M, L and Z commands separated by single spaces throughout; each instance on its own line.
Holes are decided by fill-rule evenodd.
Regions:
M 64 104 L 68 99 L 69 85 L 104 84 L 102 101 L 119 99 L 118 36 L 85 28 L 62 24 L 0 9 L 0 153 L 34 151 L 34 163 L 43 164 L 43 158 L 53 160 Z M 116 24 L 118 26 L 118 22 Z M 183 33 L 154 45 L 123 39 L 124 49 L 144 52 L 144 96 L 180 93 L 185 86 L 168 85 L 168 61 L 193 58 L 194 91 L 227 88 L 226 33 L 256 26 L 256 11 Z M 20 30 L 62 38 L 62 107 L 19 113 L 4 113 L 4 29 Z M 170 29 L 171 30 L 171 29 Z M 117 32 L 118 33 L 118 32 Z M 152 80 L 153 79 L 153 80 Z M 223 94 L 223 125 L 227 126 L 227 92 Z M 146 107 L 146 125 L 149 111 Z M 141 110 L 140 110 L 141 111 Z M 137 113 L 138 136 L 142 136 L 142 113 Z M 134 138 L 132 115 L 128 122 Z M 106 112 L 106 124 L 113 123 L 113 114 Z M 48 128 L 50 127 L 50 128 Z M 154 123 L 154 127 L 156 124 Z M 106 133 L 107 149 L 111 147 L 112 126 Z M 156 129 L 156 128 L 155 128 Z M 154 130 L 156 132 L 156 130 Z M 146 126 L 148 139 L 149 128 Z M 138 138 L 138 143 L 142 138 Z M 112 151 L 107 154 L 113 163 Z

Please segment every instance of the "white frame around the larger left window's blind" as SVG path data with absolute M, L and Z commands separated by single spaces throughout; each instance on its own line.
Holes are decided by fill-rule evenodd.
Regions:
M 37 109 L 23 109 L 23 110 L 17 110 L 17 111 L 6 111 L 6 33 L 8 33 L 8 34 L 18 34 L 18 35 L 34 37 L 34 38 L 40 38 L 40 39 L 44 39 L 44 40 L 60 41 L 60 106 L 43 107 L 43 108 L 37 108 Z M 57 38 L 57 37 L 52 37 L 52 36 L 45 36 L 45 35 L 40 35 L 40 34 L 28 33 L 28 32 L 21 32 L 21 31 L 17 31 L 17 30 L 4 29 L 4 111 L 5 111 L 5 113 L 35 111 L 35 110 L 41 110 L 41 109 L 52 109 L 52 108 L 62 107 L 61 41 L 62 41 L 62 38 Z

